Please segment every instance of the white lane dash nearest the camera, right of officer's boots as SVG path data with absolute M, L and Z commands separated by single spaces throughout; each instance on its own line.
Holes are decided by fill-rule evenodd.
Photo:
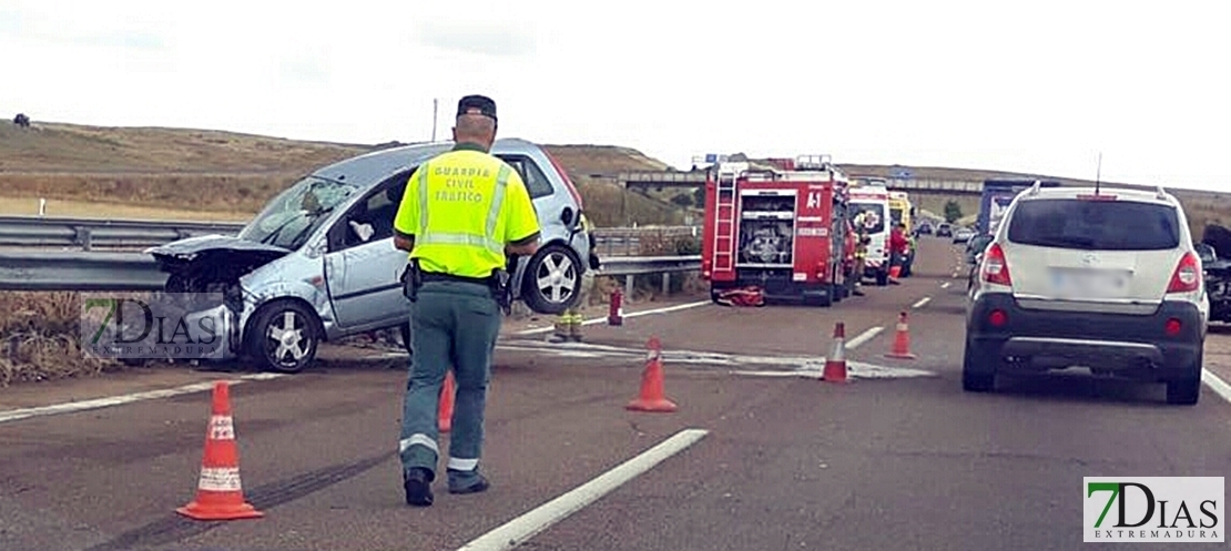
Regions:
M 505 525 L 476 537 L 469 544 L 459 547 L 458 551 L 505 551 L 517 547 L 555 523 L 564 520 L 566 517 L 581 510 L 586 505 L 611 493 L 628 481 L 645 474 L 650 469 L 654 469 L 654 466 L 662 462 L 667 458 L 671 458 L 672 455 L 676 455 L 686 448 L 696 444 L 705 437 L 705 434 L 709 434 L 709 430 L 681 430 L 659 445 L 650 448 L 641 455 L 624 461 L 616 469 L 604 472 L 602 476 L 577 486 L 567 493 L 539 505 L 534 510 L 512 519 Z

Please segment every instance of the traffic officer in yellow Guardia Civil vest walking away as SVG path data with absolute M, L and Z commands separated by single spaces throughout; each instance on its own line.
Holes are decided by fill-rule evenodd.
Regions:
M 521 176 L 490 155 L 496 103 L 458 102 L 457 145 L 422 164 L 394 221 L 395 245 L 410 252 L 415 351 L 406 384 L 400 455 L 406 503 L 431 505 L 439 461 L 437 408 L 446 370 L 457 381 L 447 462 L 451 493 L 487 490 L 479 472 L 491 355 L 506 291 L 506 256 L 533 255 L 539 224 Z M 507 298 L 507 295 L 503 295 Z

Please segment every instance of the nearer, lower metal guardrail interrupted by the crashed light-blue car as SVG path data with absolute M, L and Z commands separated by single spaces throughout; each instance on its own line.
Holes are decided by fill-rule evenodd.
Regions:
M 632 288 L 634 276 L 699 269 L 699 256 L 609 257 L 596 274 L 623 276 Z M 166 277 L 139 252 L 0 251 L 0 291 L 161 290 Z

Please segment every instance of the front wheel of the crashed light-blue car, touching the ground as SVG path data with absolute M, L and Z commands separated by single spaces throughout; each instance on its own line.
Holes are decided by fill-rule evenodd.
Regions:
M 249 325 L 245 348 L 266 370 L 299 373 L 316 358 L 316 314 L 302 303 L 270 303 Z

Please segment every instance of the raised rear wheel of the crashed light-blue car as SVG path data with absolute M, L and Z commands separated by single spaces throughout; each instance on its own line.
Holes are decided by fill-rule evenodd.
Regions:
M 581 261 L 572 248 L 539 248 L 522 276 L 522 298 L 538 314 L 563 314 L 581 296 Z

